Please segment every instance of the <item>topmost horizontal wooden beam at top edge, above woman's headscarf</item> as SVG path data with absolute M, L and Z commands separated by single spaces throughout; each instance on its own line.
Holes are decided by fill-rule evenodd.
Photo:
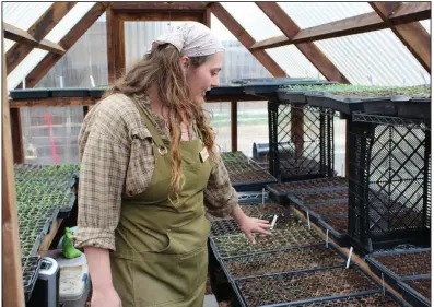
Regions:
M 204 11 L 207 2 L 113 2 L 112 9 L 120 12 L 151 12 L 151 11 Z

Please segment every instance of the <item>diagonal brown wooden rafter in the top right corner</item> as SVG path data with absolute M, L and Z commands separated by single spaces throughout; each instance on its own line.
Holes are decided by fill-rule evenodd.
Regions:
M 378 16 L 390 26 L 390 29 L 421 66 L 431 73 L 431 35 L 420 22 L 394 25 L 390 16 L 396 14 L 397 11 L 400 12 L 402 7 L 400 2 L 370 2 L 370 4 Z

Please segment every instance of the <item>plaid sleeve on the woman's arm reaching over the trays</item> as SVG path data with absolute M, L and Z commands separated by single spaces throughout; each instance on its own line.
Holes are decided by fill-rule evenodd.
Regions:
M 203 196 L 208 213 L 218 217 L 230 215 L 238 206 L 238 196 L 231 185 L 227 169 L 222 160 L 212 169 Z

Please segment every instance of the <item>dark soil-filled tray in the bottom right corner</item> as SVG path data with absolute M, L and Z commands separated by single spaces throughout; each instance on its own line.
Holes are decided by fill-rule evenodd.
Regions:
M 431 276 L 406 278 L 398 282 L 400 292 L 413 307 L 431 306 Z

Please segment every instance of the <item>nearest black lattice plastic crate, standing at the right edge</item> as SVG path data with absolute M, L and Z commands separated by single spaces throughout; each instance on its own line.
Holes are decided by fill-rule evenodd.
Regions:
M 365 252 L 430 241 L 431 130 L 401 118 L 349 122 L 350 227 Z

